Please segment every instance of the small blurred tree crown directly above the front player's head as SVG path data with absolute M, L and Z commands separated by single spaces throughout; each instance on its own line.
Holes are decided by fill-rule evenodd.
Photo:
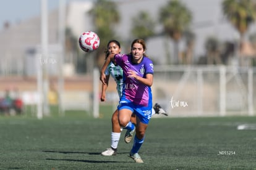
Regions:
M 141 38 L 147 41 L 150 36 L 155 35 L 155 22 L 148 12 L 140 12 L 139 15 L 132 18 L 132 23 L 133 26 L 131 32 L 135 38 Z

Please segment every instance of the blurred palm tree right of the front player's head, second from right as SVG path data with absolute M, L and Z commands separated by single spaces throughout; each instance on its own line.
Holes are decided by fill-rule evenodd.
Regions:
M 179 40 L 191 21 L 190 10 L 178 0 L 171 0 L 160 9 L 160 22 L 163 24 L 164 32 L 174 40 L 175 63 L 179 55 Z

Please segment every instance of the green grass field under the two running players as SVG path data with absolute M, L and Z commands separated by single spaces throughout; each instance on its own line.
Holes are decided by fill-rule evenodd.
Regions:
M 110 145 L 110 114 L 0 116 L 0 169 L 256 169 L 256 131 L 237 130 L 245 123 L 256 118 L 152 118 L 138 164 L 124 132 L 116 156 L 100 155 Z

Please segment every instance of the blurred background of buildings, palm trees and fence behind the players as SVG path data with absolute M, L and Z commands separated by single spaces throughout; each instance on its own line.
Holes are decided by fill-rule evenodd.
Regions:
M 98 69 L 109 40 L 127 53 L 136 38 L 154 62 L 153 102 L 169 116 L 255 115 L 255 0 L 9 0 L 0 13 L 1 115 L 114 111 L 116 85 L 100 102 Z M 89 30 L 100 47 L 85 53 L 78 39 Z

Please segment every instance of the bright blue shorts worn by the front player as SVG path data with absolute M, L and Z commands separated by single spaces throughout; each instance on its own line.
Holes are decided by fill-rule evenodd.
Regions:
M 122 110 L 124 108 L 131 110 L 132 113 L 135 113 L 142 123 L 149 123 L 152 116 L 152 102 L 149 102 L 148 106 L 145 107 L 142 105 L 135 105 L 134 103 L 130 102 L 130 100 L 121 98 L 117 109 Z

